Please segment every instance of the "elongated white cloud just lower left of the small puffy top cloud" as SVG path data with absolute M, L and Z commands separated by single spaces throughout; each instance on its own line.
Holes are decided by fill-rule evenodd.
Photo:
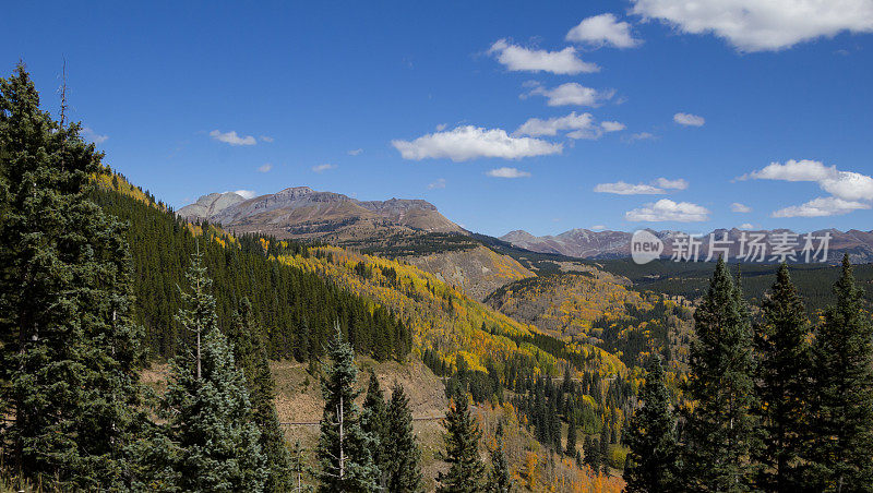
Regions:
M 576 57 L 576 49 L 572 47 L 566 47 L 561 51 L 547 51 L 528 49 L 511 45 L 506 39 L 499 39 L 491 45 L 488 53 L 497 56 L 498 61 L 513 72 L 551 72 L 574 75 L 600 70 L 595 63 L 584 62 Z

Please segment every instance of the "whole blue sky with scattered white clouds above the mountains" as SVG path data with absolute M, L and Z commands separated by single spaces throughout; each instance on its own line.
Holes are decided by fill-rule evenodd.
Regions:
M 177 207 L 309 185 L 494 236 L 870 230 L 873 0 L 684 3 L 16 2 L 0 62 L 57 109 L 65 58 L 73 118 Z

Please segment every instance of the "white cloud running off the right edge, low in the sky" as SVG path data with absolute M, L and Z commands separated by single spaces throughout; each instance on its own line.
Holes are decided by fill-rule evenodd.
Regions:
M 825 192 L 845 201 L 873 200 L 873 178 L 853 171 L 840 171 L 811 159 L 790 159 L 785 165 L 770 163 L 764 169 L 739 177 L 739 180 L 812 181 Z

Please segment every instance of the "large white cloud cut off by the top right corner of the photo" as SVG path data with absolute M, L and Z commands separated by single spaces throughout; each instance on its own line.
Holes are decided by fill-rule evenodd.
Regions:
M 633 13 L 679 32 L 713 33 L 740 51 L 790 48 L 838 33 L 873 32 L 870 0 L 633 0 Z

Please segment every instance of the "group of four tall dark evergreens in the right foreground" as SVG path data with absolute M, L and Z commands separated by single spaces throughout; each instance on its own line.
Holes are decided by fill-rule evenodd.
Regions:
M 873 491 L 873 324 L 848 256 L 812 323 L 787 265 L 753 318 L 719 261 L 694 314 L 683 402 L 654 358 L 629 492 Z

